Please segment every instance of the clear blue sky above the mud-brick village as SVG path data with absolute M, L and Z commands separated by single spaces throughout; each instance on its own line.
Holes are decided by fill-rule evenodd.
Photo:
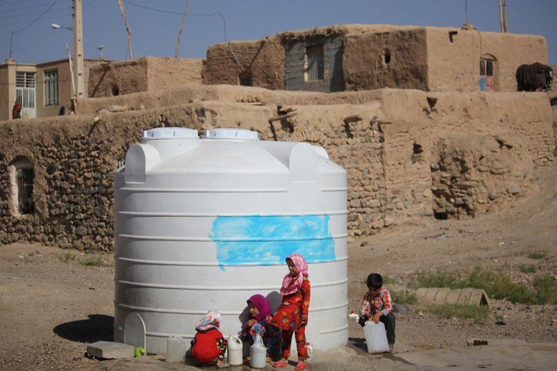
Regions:
M 134 57 L 174 56 L 180 14 L 139 6 L 182 13 L 185 0 L 124 1 L 132 29 Z M 507 2 L 509 31 L 543 35 L 547 39 L 549 61 L 557 63 L 557 0 Z M 8 57 L 10 32 L 30 24 L 52 3 L 54 0 L 0 0 L 0 63 Z M 15 33 L 12 57 L 19 63 L 65 58 L 65 43 L 72 46 L 72 33 L 54 30 L 49 25 L 71 26 L 71 5 L 71 0 L 58 0 L 41 19 Z M 470 22 L 480 31 L 500 31 L 497 0 L 469 0 L 468 8 Z M 223 41 L 221 19 L 199 16 L 216 11 L 226 18 L 229 40 L 254 40 L 286 30 L 331 24 L 460 27 L 466 20 L 464 0 L 190 0 L 180 57 L 204 57 L 209 45 Z M 104 45 L 104 58 L 127 58 L 127 36 L 116 0 L 84 0 L 86 58 L 99 56 L 97 45 Z

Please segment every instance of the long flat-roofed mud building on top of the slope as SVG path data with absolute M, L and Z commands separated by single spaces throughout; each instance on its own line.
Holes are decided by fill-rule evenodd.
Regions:
M 347 24 L 212 45 L 203 78 L 206 84 L 322 92 L 516 91 L 519 65 L 547 61 L 539 35 Z

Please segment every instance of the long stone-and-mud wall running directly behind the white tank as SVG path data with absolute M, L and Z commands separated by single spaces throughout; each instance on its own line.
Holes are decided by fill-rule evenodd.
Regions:
M 466 218 L 509 207 L 535 192 L 533 169 L 554 160 L 543 93 L 324 94 L 212 86 L 203 95 L 200 88 L 208 87 L 137 93 L 128 102 L 88 100 L 151 105 L 102 111 L 97 124 L 92 116 L 1 122 L 0 242 L 110 249 L 111 172 L 141 130 L 156 126 L 242 127 L 258 131 L 262 140 L 322 145 L 348 172 L 350 237 L 413 216 Z M 191 102 L 168 104 L 194 91 L 200 93 Z M 214 100 L 220 95 L 223 100 Z M 139 99 L 146 96 L 152 100 Z M 294 115 L 268 122 L 285 112 Z M 31 216 L 14 216 L 10 209 L 8 173 L 18 156 L 30 159 L 36 171 L 37 211 Z

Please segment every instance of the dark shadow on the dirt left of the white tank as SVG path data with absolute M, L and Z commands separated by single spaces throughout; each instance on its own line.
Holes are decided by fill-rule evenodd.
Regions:
M 88 319 L 58 324 L 52 331 L 61 338 L 76 342 L 112 341 L 114 317 L 110 315 L 88 315 Z

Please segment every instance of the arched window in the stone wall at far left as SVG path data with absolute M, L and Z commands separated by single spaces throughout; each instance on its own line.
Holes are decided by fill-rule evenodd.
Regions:
M 24 157 L 18 157 L 11 166 L 13 209 L 15 214 L 33 214 L 33 164 Z

